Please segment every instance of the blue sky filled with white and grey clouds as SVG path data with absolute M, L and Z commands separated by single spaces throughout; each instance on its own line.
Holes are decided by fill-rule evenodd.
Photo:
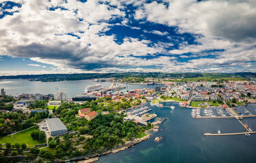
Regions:
M 256 72 L 255 0 L 0 0 L 0 75 Z

